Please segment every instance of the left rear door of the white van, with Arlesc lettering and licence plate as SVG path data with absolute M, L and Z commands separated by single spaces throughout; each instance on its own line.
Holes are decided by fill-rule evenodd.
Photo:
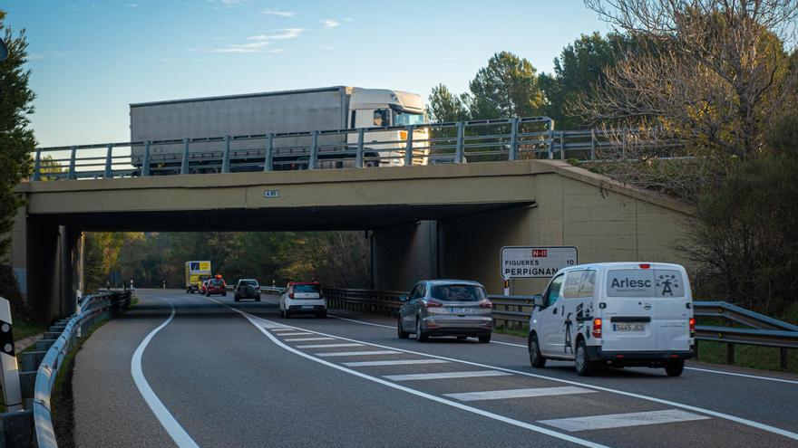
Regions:
M 653 269 L 629 265 L 609 269 L 601 310 L 602 349 L 606 351 L 656 351 L 657 298 Z M 599 297 L 601 297 L 599 295 Z M 599 303 L 599 309 L 601 308 Z

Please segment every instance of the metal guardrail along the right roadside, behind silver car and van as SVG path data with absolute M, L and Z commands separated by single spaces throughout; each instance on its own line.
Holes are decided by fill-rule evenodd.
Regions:
M 341 288 L 324 288 L 330 308 L 377 312 L 395 316 L 402 303 L 399 296 L 404 291 L 370 291 Z M 521 329 L 529 323 L 532 312 L 532 296 L 489 295 L 493 302 L 495 325 L 504 328 Z M 798 349 L 798 326 L 774 319 L 764 314 L 745 310 L 725 301 L 693 302 L 694 316 L 722 317 L 736 323 L 753 327 L 718 327 L 696 325 L 696 340 L 724 342 L 727 346 L 726 360 L 735 363 L 735 345 L 754 345 L 779 348 L 779 361 L 787 367 L 787 350 Z M 696 352 L 698 345 L 696 344 Z

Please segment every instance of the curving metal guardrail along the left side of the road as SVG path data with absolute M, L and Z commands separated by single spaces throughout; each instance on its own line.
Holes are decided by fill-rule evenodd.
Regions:
M 72 318 L 63 319 L 63 331 L 47 349 L 36 372 L 34 386 L 34 438 L 39 448 L 57 448 L 52 420 L 53 387 L 63 358 L 75 343 L 101 319 L 111 318 L 131 304 L 131 291 L 103 292 L 87 295 L 79 303 Z M 62 325 L 55 325 L 57 329 Z

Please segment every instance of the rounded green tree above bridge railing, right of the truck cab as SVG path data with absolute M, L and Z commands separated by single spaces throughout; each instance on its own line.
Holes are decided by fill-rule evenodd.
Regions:
M 535 68 L 511 52 L 498 52 L 469 83 L 472 119 L 530 117 L 543 111 Z

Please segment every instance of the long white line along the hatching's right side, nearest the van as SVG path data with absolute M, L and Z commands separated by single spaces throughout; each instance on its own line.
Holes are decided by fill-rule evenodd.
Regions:
M 330 335 L 330 334 L 322 333 L 322 332 L 319 332 L 319 331 L 314 331 L 312 329 L 304 329 L 304 330 L 305 331 L 312 331 L 312 332 L 316 333 L 317 335 L 321 335 L 321 336 L 333 336 L 333 337 L 339 338 L 341 340 L 351 340 L 351 341 L 356 341 L 357 340 L 357 339 L 352 339 L 352 338 L 344 338 L 343 336 Z M 437 357 L 438 359 L 446 359 L 448 361 L 459 362 L 459 363 L 466 364 L 466 365 L 469 365 L 469 366 L 493 368 L 493 369 L 496 369 L 496 370 L 509 372 L 509 373 L 515 374 L 515 375 L 522 375 L 524 377 L 548 379 L 550 381 L 555 381 L 555 382 L 558 382 L 558 383 L 569 384 L 569 385 L 572 385 L 572 386 L 589 387 L 591 389 L 600 390 L 602 392 L 609 392 L 611 394 L 617 394 L 619 396 L 631 396 L 633 398 L 639 398 L 641 400 L 647 400 L 647 401 L 650 401 L 650 402 L 653 402 L 653 403 L 659 403 L 660 405 L 674 406 L 674 407 L 679 407 L 679 408 L 682 408 L 682 409 L 686 409 L 688 411 L 694 411 L 694 412 L 699 412 L 699 413 L 706 414 L 706 415 L 712 415 L 714 417 L 723 418 L 725 420 L 729 420 L 731 422 L 735 422 L 735 423 L 738 423 L 738 424 L 744 424 L 746 426 L 751 426 L 751 427 L 754 427 L 756 429 L 760 429 L 760 430 L 768 432 L 768 433 L 778 434 L 778 435 L 782 435 L 784 437 L 787 437 L 789 439 L 798 440 L 798 434 L 795 434 L 793 432 L 787 431 L 787 430 L 782 429 L 782 428 L 777 428 L 775 426 L 771 426 L 770 424 L 763 424 L 763 423 L 755 422 L 754 420 L 748 420 L 746 418 L 738 417 L 736 415 L 730 415 L 730 414 L 725 414 L 725 413 L 718 412 L 718 411 L 713 411 L 711 409 L 706 409 L 704 407 L 699 407 L 699 406 L 694 406 L 694 405 L 685 405 L 683 403 L 677 403 L 675 401 L 670 401 L 670 400 L 666 400 L 666 399 L 663 399 L 663 398 L 657 398 L 656 396 L 644 396 L 644 395 L 640 395 L 640 394 L 635 394 L 633 392 L 627 392 L 627 391 L 623 391 L 623 390 L 612 389 L 612 388 L 609 388 L 609 387 L 594 386 L 594 385 L 589 385 L 587 383 L 579 383 L 578 381 L 571 381 L 569 379 L 563 379 L 563 378 L 558 378 L 558 377 L 547 377 L 545 375 L 533 374 L 533 373 L 530 373 L 530 372 L 524 372 L 524 371 L 521 371 L 521 370 L 515 370 L 515 369 L 511 369 L 511 368 L 490 366 L 490 365 L 487 365 L 487 364 L 481 364 L 481 363 L 477 363 L 477 362 L 466 361 L 464 359 L 457 359 L 457 358 L 453 358 L 453 357 L 442 357 L 442 356 L 433 355 L 433 354 L 430 354 L 430 353 L 423 353 L 423 352 L 414 351 L 414 350 L 406 350 L 404 348 L 396 348 L 396 347 L 391 347 L 391 346 L 384 346 L 384 345 L 381 345 L 381 344 L 374 344 L 374 343 L 371 343 L 371 342 L 363 342 L 363 341 L 358 341 L 358 342 L 362 342 L 361 345 L 368 345 L 368 346 L 375 347 L 375 348 L 387 348 L 387 349 L 397 350 L 397 351 L 401 351 L 401 352 L 404 352 L 404 353 L 410 353 L 412 355 L 419 355 L 419 356 L 423 356 L 423 357 Z

